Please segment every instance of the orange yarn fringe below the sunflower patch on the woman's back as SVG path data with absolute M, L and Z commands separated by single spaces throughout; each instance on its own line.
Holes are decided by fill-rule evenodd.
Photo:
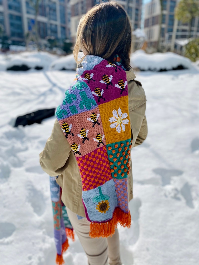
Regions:
M 90 223 L 90 237 L 112 237 L 115 233 L 117 224 L 123 227 L 131 226 L 131 214 L 124 213 L 119 207 L 116 207 L 113 213 L 113 219 L 106 223 Z

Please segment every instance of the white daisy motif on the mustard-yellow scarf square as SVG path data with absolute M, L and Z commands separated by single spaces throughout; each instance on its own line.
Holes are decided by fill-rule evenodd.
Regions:
M 113 117 L 109 118 L 109 122 L 111 129 L 116 128 L 116 131 L 118 133 L 121 133 L 121 130 L 123 132 L 125 131 L 125 125 L 129 123 L 129 120 L 127 119 L 128 114 L 126 112 L 122 113 L 122 110 L 119 108 L 118 111 L 116 109 L 113 110 Z M 122 129 L 121 129 L 122 127 Z

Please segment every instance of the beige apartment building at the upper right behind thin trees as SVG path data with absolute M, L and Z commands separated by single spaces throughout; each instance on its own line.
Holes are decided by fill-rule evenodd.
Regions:
M 160 0 L 152 0 L 145 5 L 144 32 L 148 38 L 148 47 L 153 46 L 157 48 L 159 32 L 162 44 L 166 44 L 168 48 L 171 46 L 174 31 L 176 31 L 174 41 L 175 39 L 188 38 L 188 24 L 182 24 L 180 21 L 175 21 L 174 12 L 178 2 L 179 0 L 163 0 L 161 31 L 159 23 L 161 17 Z M 174 29 L 174 22 L 176 24 L 176 30 Z M 198 17 L 192 21 L 191 32 L 191 36 L 196 36 L 199 32 Z

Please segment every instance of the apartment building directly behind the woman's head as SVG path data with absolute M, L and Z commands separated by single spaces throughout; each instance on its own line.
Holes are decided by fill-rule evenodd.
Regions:
M 0 0 L 1 1 L 1 0 Z M 77 27 L 81 17 L 90 8 L 106 0 L 70 0 L 71 4 L 71 37 L 76 40 Z M 142 0 L 115 0 L 126 10 L 131 21 L 132 30 L 141 27 Z

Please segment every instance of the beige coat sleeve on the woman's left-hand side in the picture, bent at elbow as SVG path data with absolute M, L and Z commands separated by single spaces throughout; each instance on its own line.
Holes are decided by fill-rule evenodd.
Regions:
M 40 165 L 50 176 L 58 176 L 68 167 L 72 149 L 56 119 L 51 136 L 40 153 Z

